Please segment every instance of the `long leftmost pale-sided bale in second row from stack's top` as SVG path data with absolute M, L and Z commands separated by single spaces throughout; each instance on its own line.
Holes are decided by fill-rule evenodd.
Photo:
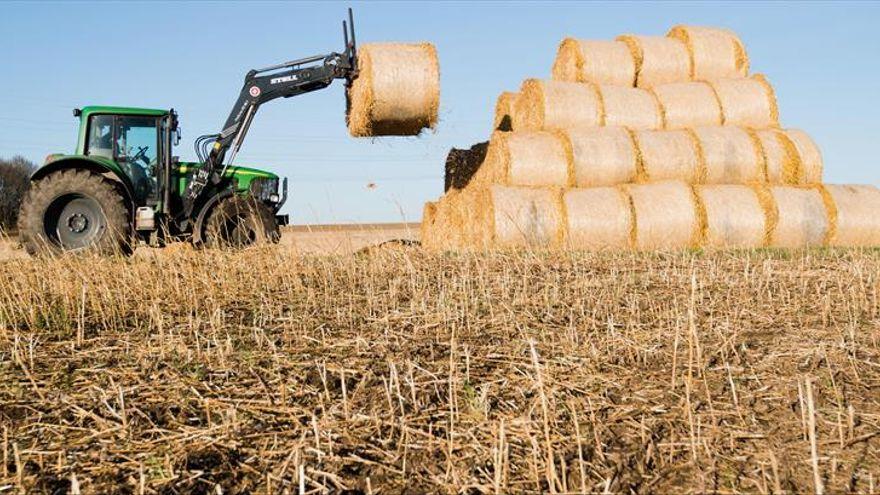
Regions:
M 602 100 L 589 83 L 526 79 L 513 111 L 518 131 L 602 125 Z

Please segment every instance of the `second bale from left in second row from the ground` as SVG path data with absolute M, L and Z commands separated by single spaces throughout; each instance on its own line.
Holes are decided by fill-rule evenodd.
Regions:
M 636 180 L 638 155 L 625 128 L 581 127 L 562 131 L 562 135 L 571 149 L 574 186 L 610 186 Z

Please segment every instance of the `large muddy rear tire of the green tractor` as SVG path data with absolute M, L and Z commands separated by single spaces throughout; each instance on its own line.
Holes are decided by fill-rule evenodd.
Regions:
M 116 188 L 87 170 L 68 169 L 31 185 L 18 216 L 19 239 L 31 255 L 132 252 L 131 224 Z

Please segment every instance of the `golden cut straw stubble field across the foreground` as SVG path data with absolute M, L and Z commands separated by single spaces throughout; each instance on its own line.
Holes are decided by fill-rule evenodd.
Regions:
M 0 264 L 0 491 L 874 492 L 880 253 Z

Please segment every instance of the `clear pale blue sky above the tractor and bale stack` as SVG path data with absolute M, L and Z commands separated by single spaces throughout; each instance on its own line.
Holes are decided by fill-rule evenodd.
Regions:
M 485 140 L 496 96 L 549 77 L 564 36 L 737 31 L 777 91 L 783 125 L 809 132 L 828 182 L 880 185 L 880 3 L 856 2 L 4 2 L 0 156 L 71 151 L 74 107 L 175 108 L 184 140 L 219 131 L 248 69 L 358 41 L 437 46 L 441 122 L 418 138 L 354 139 L 342 84 L 260 109 L 236 163 L 290 178 L 296 223 L 418 220 L 443 191 L 452 146 Z M 375 187 L 368 187 L 369 184 Z

